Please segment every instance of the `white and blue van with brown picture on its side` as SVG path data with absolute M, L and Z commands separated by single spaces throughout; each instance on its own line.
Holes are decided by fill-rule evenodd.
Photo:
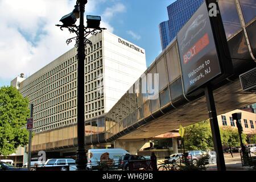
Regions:
M 122 148 L 108 149 L 89 149 L 87 156 L 87 167 L 89 169 L 99 169 L 100 164 L 106 164 L 108 167 L 118 167 L 119 158 L 125 154 L 129 154 Z

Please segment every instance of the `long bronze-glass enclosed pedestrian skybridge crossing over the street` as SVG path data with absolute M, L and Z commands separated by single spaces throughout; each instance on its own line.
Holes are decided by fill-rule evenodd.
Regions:
M 242 91 L 239 78 L 256 67 L 256 7 L 253 0 L 236 1 L 240 2 L 237 5 L 235 1 L 218 2 L 234 71 L 226 80 L 212 85 L 217 114 L 222 114 L 256 102 L 255 93 Z M 208 119 L 204 89 L 198 89 L 192 96 L 184 94 L 177 48 L 175 38 L 108 113 L 85 121 L 86 145 L 151 138 L 179 129 L 180 124 L 188 126 Z M 159 74 L 155 100 L 150 99 L 154 86 L 150 88 L 147 84 L 147 92 L 142 92 L 143 80 L 148 83 L 149 73 Z M 33 152 L 76 146 L 76 123 L 36 133 L 32 139 Z

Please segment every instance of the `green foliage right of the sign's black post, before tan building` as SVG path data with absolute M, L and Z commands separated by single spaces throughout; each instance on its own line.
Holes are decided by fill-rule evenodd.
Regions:
M 224 146 L 236 147 L 240 146 L 240 137 L 237 128 L 231 126 L 222 127 L 220 129 L 221 142 Z M 242 134 L 242 142 L 246 143 L 246 134 Z

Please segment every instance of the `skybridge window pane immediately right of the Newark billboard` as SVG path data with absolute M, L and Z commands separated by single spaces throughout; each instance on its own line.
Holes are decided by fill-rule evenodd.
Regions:
M 234 0 L 220 0 L 218 1 L 218 5 L 220 6 L 220 13 L 226 32 L 226 38 L 229 38 L 242 28 L 236 4 L 234 3 Z

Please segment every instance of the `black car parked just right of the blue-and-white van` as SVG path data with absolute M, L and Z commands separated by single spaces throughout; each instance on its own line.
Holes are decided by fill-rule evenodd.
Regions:
M 129 162 L 145 162 L 145 161 L 148 161 L 148 164 L 150 163 L 150 159 L 146 159 L 144 156 L 126 154 L 119 158 L 118 169 L 128 170 Z

